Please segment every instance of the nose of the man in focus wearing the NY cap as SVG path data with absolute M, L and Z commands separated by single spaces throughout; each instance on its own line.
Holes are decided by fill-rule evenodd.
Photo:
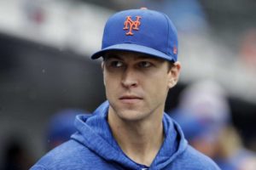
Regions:
M 122 77 L 122 85 L 125 88 L 137 87 L 137 74 L 132 68 L 126 68 Z

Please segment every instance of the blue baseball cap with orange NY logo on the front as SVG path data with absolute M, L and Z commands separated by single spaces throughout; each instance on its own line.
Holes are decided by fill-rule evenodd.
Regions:
M 91 59 L 113 50 L 149 54 L 176 62 L 177 30 L 166 14 L 147 8 L 120 11 L 108 19 L 102 49 Z

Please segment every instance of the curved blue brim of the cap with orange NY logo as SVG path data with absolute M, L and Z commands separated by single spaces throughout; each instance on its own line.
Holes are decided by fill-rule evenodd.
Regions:
M 95 54 L 92 54 L 91 59 L 98 59 L 102 57 L 102 55 L 105 54 L 106 52 L 113 51 L 113 50 L 132 51 L 132 52 L 152 55 L 160 59 L 167 59 L 173 62 L 176 61 L 174 57 L 164 54 L 158 50 L 155 50 L 154 48 L 148 48 L 143 45 L 137 45 L 134 43 L 121 43 L 121 44 L 109 46 L 108 48 L 103 48 L 102 50 L 96 52 Z

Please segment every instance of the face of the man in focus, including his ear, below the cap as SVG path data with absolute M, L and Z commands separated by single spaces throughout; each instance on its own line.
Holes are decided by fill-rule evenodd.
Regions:
M 109 52 L 102 64 L 109 111 L 128 121 L 160 117 L 179 68 L 146 54 Z

